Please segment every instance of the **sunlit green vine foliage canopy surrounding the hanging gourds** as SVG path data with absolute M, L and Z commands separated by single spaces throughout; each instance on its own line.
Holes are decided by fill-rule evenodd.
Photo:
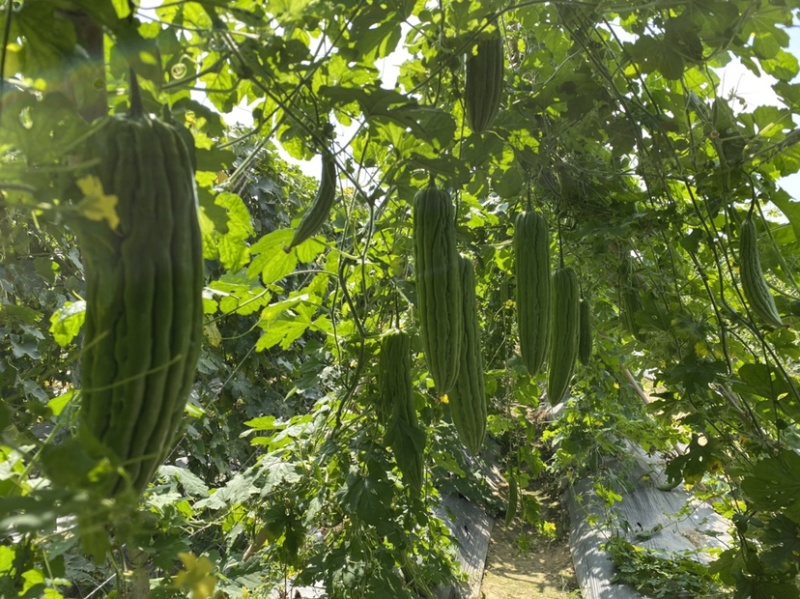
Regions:
M 734 525 L 708 570 L 714 592 L 800 597 L 800 204 L 780 182 L 800 170 L 800 63 L 787 49 L 798 11 L 5 2 L 0 595 L 266 596 L 290 577 L 334 597 L 410 597 L 450 580 L 439 494 L 504 506 L 484 459 L 463 451 L 419 339 L 412 201 L 433 180 L 475 264 L 491 459 L 521 486 L 544 469 L 564 485 L 590 470 L 612 489 L 605 456 L 627 442 L 663 452 L 671 483 Z M 466 57 L 497 31 L 500 110 L 475 133 Z M 721 95 L 732 61 L 780 106 Z M 73 435 L 86 298 L 74 225 L 114 218 L 113 199 L 79 178 L 80 149 L 127 110 L 132 71 L 145 109 L 194 138 L 205 258 L 183 433 L 141 505 L 93 492 L 108 465 Z M 339 173 L 333 211 L 284 251 L 318 186 L 292 164 L 323 152 Z M 552 268 L 577 273 L 594 332 L 546 430 L 531 414 L 547 374 L 530 377 L 518 352 L 512 240 L 526 208 L 547 220 Z M 747 218 L 782 326 L 742 289 Z M 379 406 L 378 349 L 395 327 L 412 335 L 427 432 L 421 496 Z M 523 508 L 541 524 L 534 498 Z

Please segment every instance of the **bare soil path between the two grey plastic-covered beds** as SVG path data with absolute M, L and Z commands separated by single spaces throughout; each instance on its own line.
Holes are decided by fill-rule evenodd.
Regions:
M 534 493 L 550 520 L 563 518 L 558 502 Z M 550 516 L 548 512 L 560 512 Z M 549 517 L 548 517 L 549 516 Z M 489 541 L 481 599 L 579 599 L 565 527 L 547 536 L 518 517 L 510 528 L 499 518 Z

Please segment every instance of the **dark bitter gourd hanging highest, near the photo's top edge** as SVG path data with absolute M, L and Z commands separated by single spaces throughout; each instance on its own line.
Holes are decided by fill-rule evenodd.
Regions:
M 494 122 L 503 97 L 503 36 L 496 29 L 480 39 L 467 55 L 464 102 L 470 129 L 483 133 Z

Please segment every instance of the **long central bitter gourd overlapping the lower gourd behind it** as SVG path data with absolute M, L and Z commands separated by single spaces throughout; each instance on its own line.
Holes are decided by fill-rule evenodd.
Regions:
M 414 268 L 422 348 L 439 395 L 458 376 L 463 301 L 450 194 L 431 184 L 414 197 Z

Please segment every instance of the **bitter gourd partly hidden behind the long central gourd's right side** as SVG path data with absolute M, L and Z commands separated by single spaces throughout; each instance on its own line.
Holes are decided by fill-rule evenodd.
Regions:
M 475 302 L 475 268 L 472 261 L 459 257 L 463 297 L 464 333 L 461 360 L 455 387 L 448 394 L 450 416 L 458 436 L 467 449 L 478 455 L 486 434 L 486 390 L 481 357 L 481 329 Z

